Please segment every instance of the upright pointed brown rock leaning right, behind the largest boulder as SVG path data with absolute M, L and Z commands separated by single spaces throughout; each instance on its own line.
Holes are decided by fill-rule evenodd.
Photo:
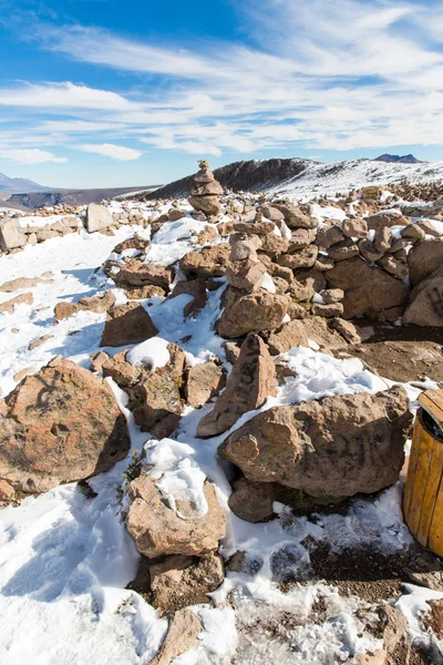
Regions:
M 269 351 L 258 335 L 249 334 L 241 345 L 226 390 L 214 409 L 198 422 L 197 436 L 215 437 L 225 432 L 240 416 L 258 409 L 276 393 L 276 369 Z

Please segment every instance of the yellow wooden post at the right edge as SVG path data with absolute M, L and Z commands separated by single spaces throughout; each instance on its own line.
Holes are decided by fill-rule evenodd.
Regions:
M 416 540 L 443 556 L 443 390 L 423 392 L 419 403 L 403 514 Z M 429 418 L 436 428 L 427 427 Z

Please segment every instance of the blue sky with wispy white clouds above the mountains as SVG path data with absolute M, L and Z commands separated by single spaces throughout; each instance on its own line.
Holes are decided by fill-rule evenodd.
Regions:
M 443 0 L 0 0 L 0 172 L 50 186 L 443 161 Z

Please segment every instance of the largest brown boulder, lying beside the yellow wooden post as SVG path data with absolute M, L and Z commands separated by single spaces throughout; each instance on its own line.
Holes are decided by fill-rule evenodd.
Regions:
M 279 482 L 311 497 L 352 497 L 394 483 L 412 413 L 406 391 L 326 397 L 275 407 L 219 447 L 256 482 Z

